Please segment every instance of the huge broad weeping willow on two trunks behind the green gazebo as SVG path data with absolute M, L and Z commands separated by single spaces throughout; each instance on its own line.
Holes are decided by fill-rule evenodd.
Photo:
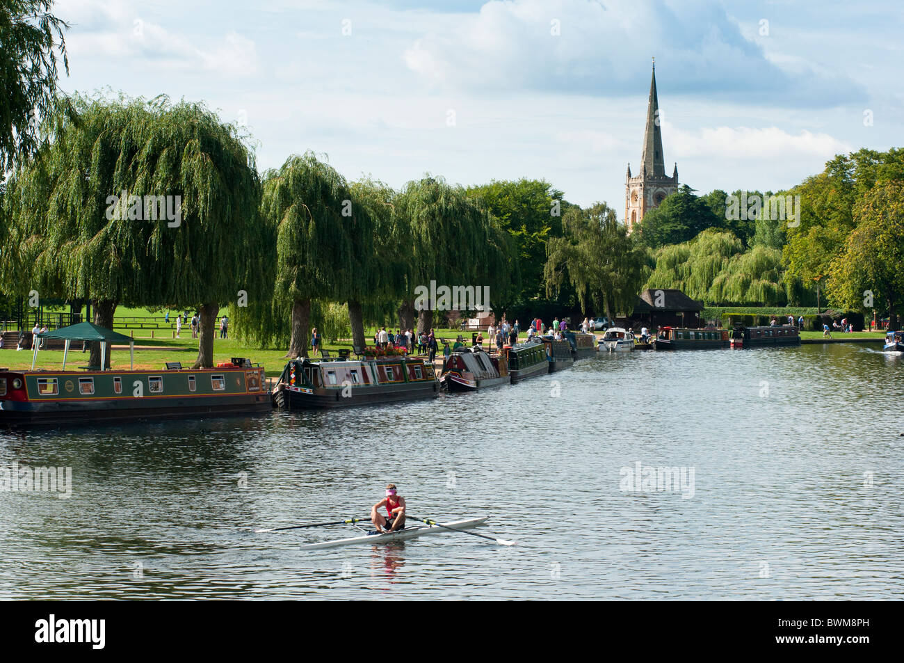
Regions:
M 198 306 L 195 366 L 212 366 L 221 303 L 263 286 L 259 180 L 236 128 L 198 104 L 76 98 L 49 132 L 6 196 L 5 282 L 89 298 L 103 327 L 120 302 Z

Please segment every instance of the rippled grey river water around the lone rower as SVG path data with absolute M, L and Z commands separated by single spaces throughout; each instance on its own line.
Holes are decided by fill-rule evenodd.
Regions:
M 434 403 L 0 434 L 0 467 L 72 468 L 69 499 L 0 493 L 0 598 L 900 598 L 904 357 L 878 347 L 605 355 Z M 683 492 L 626 489 L 638 462 L 684 469 Z M 489 515 L 476 531 L 518 545 L 250 531 L 366 516 L 388 481 L 413 515 Z

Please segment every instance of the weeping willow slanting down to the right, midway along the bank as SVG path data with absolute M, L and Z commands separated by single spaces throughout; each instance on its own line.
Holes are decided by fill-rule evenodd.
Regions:
M 469 198 L 462 187 L 427 175 L 402 189 L 396 213 L 406 233 L 405 246 L 411 256 L 407 280 L 413 288 L 402 304 L 401 327 L 413 327 L 416 303 L 423 304 L 419 306 L 418 333 L 433 327 L 437 302 L 430 298 L 416 302 L 414 297 L 418 289 L 427 289 L 432 297 L 431 281 L 436 289 L 489 288 L 491 298 L 494 289 L 511 289 L 517 273 L 512 264 L 513 244 L 504 238 L 504 231 L 485 206 Z

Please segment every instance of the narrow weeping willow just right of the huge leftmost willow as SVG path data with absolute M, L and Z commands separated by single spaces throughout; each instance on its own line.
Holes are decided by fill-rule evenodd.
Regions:
M 307 356 L 312 299 L 344 300 L 353 280 L 352 194 L 314 153 L 268 173 L 260 210 L 276 234 L 276 289 L 270 324 L 288 311 L 287 357 Z M 282 317 L 286 319 L 286 317 Z

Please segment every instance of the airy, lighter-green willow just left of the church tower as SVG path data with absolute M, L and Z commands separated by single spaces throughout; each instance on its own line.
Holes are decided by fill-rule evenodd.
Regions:
M 584 315 L 591 301 L 610 320 L 619 312 L 630 314 L 643 282 L 644 252 L 618 223 L 615 210 L 605 203 L 571 208 L 562 217 L 562 231 L 562 237 L 551 238 L 546 246 L 547 295 L 567 280 Z

